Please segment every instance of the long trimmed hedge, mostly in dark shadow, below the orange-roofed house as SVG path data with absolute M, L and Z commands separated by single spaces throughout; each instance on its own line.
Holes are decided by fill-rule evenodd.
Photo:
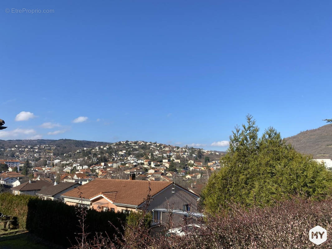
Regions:
M 26 228 L 41 238 L 63 246 L 76 244 L 75 237 L 81 232 L 76 211 L 74 206 L 57 201 L 45 201 L 27 195 L 0 194 L 0 212 L 17 216 L 20 228 Z M 117 233 L 116 228 L 120 233 L 124 232 L 122 225 L 126 217 L 126 214 L 120 212 L 87 210 L 85 232 L 90 233 L 88 238 L 96 232 L 107 233 L 112 238 Z

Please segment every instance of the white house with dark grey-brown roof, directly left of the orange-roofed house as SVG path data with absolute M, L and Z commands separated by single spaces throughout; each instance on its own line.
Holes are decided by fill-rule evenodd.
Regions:
M 38 191 L 36 195 L 43 200 L 61 200 L 60 196 L 63 193 L 72 190 L 78 186 L 81 185 L 75 182 L 60 182 L 58 184 L 50 185 Z

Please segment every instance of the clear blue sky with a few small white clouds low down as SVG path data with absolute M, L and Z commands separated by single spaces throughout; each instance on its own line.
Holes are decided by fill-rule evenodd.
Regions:
M 0 6 L 0 139 L 226 150 L 248 113 L 283 137 L 332 118 L 331 1 Z

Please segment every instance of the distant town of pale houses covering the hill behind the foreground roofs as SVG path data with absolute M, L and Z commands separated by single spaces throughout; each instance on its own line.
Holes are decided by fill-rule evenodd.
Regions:
M 0 149 L 0 184 L 18 188 L 28 181 L 84 185 L 96 178 L 176 182 L 200 194 L 220 169 L 222 152 L 157 142 L 119 141 L 56 155 L 54 145 L 15 145 Z M 42 187 L 42 186 L 41 186 Z M 38 189 L 36 189 L 37 192 Z M 13 190 L 19 193 L 18 189 Z

